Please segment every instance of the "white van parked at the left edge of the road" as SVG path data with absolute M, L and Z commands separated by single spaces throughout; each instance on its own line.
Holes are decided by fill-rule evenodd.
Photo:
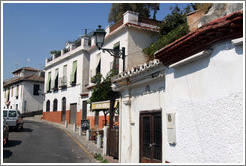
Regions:
M 3 118 L 6 119 L 6 123 L 9 128 L 15 128 L 16 131 L 23 129 L 24 120 L 20 111 L 14 109 L 4 109 Z

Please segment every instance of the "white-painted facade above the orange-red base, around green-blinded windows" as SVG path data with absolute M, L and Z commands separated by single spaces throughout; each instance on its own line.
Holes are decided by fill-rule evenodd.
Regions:
M 72 46 L 72 45 L 70 45 Z M 88 55 L 88 39 L 82 37 L 81 46 L 74 48 L 70 47 L 70 51 L 63 53 L 61 56 L 52 60 L 46 60 L 45 66 L 45 101 L 43 104 L 44 112 L 47 111 L 46 103 L 50 101 L 50 110 L 53 112 L 53 103 L 57 99 L 57 110 L 62 111 L 62 98 L 66 98 L 65 110 L 70 110 L 70 104 L 77 104 L 77 112 L 80 112 L 82 108 L 82 102 L 87 98 L 81 98 L 82 94 L 87 93 L 86 85 L 88 84 L 89 74 L 89 61 Z M 76 64 L 76 73 L 74 73 L 74 64 Z M 50 91 L 47 92 L 48 80 L 50 73 Z M 74 74 L 76 83 L 71 84 L 71 75 Z M 55 79 L 58 77 L 58 87 L 54 89 Z M 87 95 L 88 96 L 88 95 Z M 83 100 L 83 101 L 82 101 Z M 56 116 L 56 115 L 52 115 Z

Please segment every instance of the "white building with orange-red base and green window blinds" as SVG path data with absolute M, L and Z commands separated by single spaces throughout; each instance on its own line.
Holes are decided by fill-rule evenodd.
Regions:
M 88 37 L 83 36 L 80 46 L 75 48 L 74 43 L 67 42 L 61 54 L 46 59 L 44 119 L 80 124 L 82 110 L 86 117 L 88 92 L 85 86 L 88 84 L 90 61 L 88 48 Z

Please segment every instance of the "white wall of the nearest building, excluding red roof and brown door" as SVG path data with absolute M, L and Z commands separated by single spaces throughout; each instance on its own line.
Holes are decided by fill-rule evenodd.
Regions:
M 140 162 L 140 112 L 161 110 L 162 162 L 243 163 L 244 55 L 242 44 L 236 45 L 242 42 L 235 42 L 215 44 L 211 54 L 183 64 L 131 70 L 114 79 L 122 94 L 120 162 Z M 165 79 L 146 77 L 158 70 L 165 71 Z M 126 78 L 129 85 L 120 84 Z M 173 138 L 169 113 L 175 114 Z

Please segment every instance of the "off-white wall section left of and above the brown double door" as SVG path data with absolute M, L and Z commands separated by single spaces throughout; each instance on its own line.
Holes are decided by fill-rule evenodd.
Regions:
M 146 86 L 150 92 L 146 92 Z M 159 110 L 163 107 L 164 79 L 155 83 L 145 83 L 132 87 L 122 93 L 120 102 L 120 149 L 119 159 L 122 163 L 139 163 L 139 115 L 141 111 Z M 128 96 L 131 97 L 128 97 Z M 130 100 L 131 104 L 124 104 Z

